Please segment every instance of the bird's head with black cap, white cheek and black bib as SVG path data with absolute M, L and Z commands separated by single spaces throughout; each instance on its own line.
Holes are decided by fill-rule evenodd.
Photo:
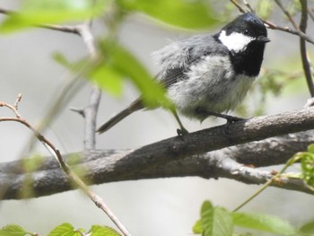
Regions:
M 215 38 L 230 51 L 239 74 L 257 76 L 263 61 L 267 30 L 254 13 L 244 13 L 222 28 Z

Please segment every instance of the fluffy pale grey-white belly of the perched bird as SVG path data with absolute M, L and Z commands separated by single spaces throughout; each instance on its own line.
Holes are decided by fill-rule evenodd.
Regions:
M 249 91 L 255 77 L 235 76 L 229 58 L 205 57 L 201 65 L 192 66 L 188 80 L 174 83 L 168 95 L 180 113 L 203 120 L 196 109 L 221 113 L 234 109 Z

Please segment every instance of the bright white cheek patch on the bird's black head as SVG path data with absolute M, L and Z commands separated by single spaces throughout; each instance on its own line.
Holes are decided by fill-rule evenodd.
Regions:
M 230 35 L 226 35 L 226 31 L 221 32 L 219 39 L 230 51 L 232 50 L 235 52 L 244 50 L 247 48 L 249 42 L 254 40 L 254 38 L 238 32 L 232 32 Z

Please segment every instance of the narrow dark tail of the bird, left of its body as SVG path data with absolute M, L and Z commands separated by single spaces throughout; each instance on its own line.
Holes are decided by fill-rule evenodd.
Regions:
M 143 109 L 143 104 L 141 100 L 136 100 L 126 109 L 121 110 L 117 115 L 110 118 L 105 124 L 99 127 L 96 132 L 99 134 L 104 133 L 105 131 L 109 130 L 109 128 L 118 124 L 118 122 L 120 122 L 122 119 L 126 118 L 128 115 L 139 109 Z

